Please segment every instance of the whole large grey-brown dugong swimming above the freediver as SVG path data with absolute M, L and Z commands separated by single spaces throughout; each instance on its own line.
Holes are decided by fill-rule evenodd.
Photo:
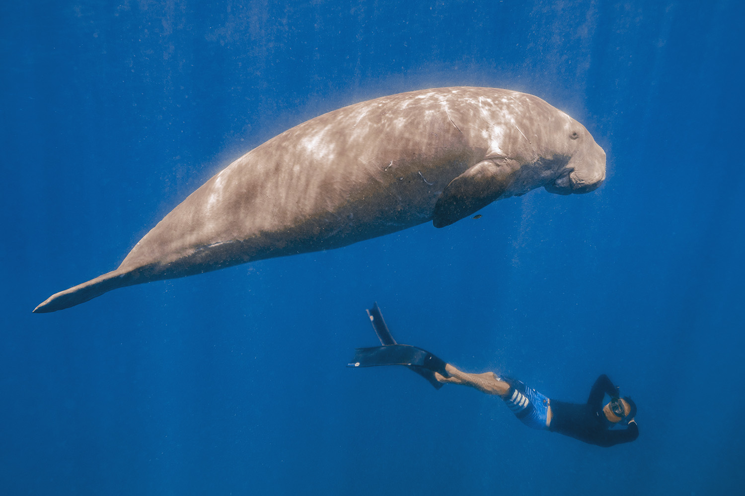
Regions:
M 115 271 L 34 312 L 112 289 L 443 228 L 537 187 L 586 193 L 606 155 L 538 97 L 498 88 L 393 94 L 295 126 L 243 155 L 168 213 Z

